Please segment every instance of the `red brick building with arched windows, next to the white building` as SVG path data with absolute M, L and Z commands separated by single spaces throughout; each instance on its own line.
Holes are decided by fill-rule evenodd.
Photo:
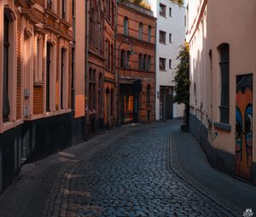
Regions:
M 155 26 L 151 10 L 118 3 L 119 123 L 154 121 Z

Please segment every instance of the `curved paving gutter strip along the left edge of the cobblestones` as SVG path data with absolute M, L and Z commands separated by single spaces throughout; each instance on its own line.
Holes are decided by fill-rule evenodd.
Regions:
M 46 202 L 44 208 L 44 217 L 65 217 L 67 216 L 67 200 L 69 196 L 70 180 L 73 178 L 73 171 L 79 167 L 80 164 L 87 161 L 90 157 L 96 155 L 97 152 L 102 151 L 108 147 L 113 141 L 119 140 L 121 136 L 131 133 L 135 128 L 129 129 L 125 133 L 120 133 L 113 140 L 108 140 L 102 144 L 96 144 L 96 147 L 87 151 L 82 157 L 79 157 L 76 162 L 67 163 L 61 171 L 57 174 L 55 184 L 51 190 L 50 197 Z

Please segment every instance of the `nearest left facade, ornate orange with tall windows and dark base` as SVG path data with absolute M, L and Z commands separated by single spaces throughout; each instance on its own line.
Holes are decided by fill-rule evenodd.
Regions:
M 72 1 L 4 0 L 0 16 L 3 190 L 32 154 L 71 143 Z

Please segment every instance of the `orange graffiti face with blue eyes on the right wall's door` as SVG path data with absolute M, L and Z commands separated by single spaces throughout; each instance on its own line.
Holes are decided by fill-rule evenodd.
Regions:
M 251 180 L 253 163 L 253 75 L 236 77 L 236 174 Z

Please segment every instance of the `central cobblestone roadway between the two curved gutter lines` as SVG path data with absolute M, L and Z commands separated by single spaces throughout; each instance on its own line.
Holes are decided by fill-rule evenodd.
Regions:
M 228 216 L 172 171 L 168 135 L 177 124 L 152 125 L 117 140 L 73 171 L 67 216 Z

